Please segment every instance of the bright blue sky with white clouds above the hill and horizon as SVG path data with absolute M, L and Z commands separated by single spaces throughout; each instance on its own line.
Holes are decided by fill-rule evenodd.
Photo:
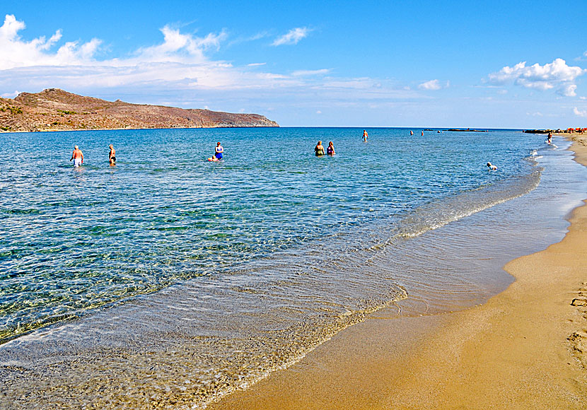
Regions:
M 587 1 L 3 1 L 0 96 L 285 127 L 587 127 Z

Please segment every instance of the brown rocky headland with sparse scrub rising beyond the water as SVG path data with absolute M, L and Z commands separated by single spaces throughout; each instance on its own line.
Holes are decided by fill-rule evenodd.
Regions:
M 0 98 L 0 131 L 71 129 L 279 127 L 257 114 L 184 110 L 83 97 L 59 88 Z

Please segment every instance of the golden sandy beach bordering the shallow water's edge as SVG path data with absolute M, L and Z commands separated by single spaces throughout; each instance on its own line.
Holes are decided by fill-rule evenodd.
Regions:
M 587 409 L 587 205 L 570 221 L 562 242 L 509 262 L 516 281 L 484 305 L 380 312 L 210 408 Z

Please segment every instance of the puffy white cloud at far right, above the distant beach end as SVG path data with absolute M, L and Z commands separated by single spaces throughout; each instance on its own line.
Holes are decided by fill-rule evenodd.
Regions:
M 517 86 L 537 90 L 557 88 L 557 93 L 560 95 L 573 97 L 576 95 L 574 81 L 586 72 L 587 70 L 581 67 L 566 65 L 564 59 L 555 59 L 552 63 L 543 66 L 540 64 L 526 66 L 526 62 L 522 61 L 513 67 L 505 66 L 496 73 L 489 74 L 489 82 L 494 84 L 513 82 Z

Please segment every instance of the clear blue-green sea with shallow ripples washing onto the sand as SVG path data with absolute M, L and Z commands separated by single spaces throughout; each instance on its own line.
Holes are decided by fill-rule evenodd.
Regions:
M 378 310 L 483 303 L 587 197 L 562 137 L 367 131 L 1 133 L 0 408 L 204 408 Z

